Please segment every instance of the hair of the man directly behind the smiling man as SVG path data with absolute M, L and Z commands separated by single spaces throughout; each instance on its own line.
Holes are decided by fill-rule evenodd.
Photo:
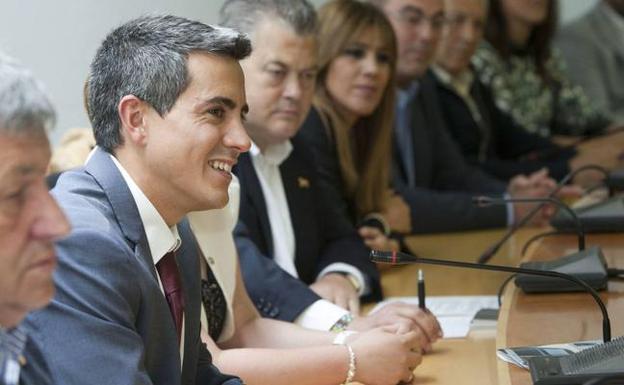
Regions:
M 219 24 L 251 34 L 262 16 L 285 21 L 301 36 L 316 33 L 316 10 L 306 0 L 225 0 Z

